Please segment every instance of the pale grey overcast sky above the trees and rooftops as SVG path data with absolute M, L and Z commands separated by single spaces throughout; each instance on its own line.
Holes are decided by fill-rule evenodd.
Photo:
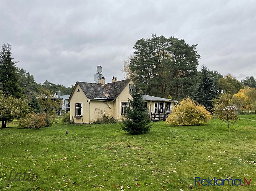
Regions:
M 198 70 L 256 77 L 255 0 L 0 1 L 0 40 L 37 83 L 94 82 L 97 65 L 105 83 L 123 80 L 123 61 L 151 33 L 198 44 Z

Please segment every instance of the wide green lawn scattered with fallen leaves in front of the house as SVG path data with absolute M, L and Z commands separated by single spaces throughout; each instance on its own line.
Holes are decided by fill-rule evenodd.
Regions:
M 230 132 L 227 124 L 212 119 L 193 127 L 157 122 L 146 135 L 128 135 L 120 124 L 58 122 L 34 130 L 12 123 L 0 129 L 0 189 L 185 191 L 193 185 L 194 190 L 254 191 L 255 125 L 256 115 L 240 115 Z M 31 170 L 38 180 L 6 181 L 12 169 L 11 179 Z M 249 186 L 194 186 L 195 177 L 252 179 Z

